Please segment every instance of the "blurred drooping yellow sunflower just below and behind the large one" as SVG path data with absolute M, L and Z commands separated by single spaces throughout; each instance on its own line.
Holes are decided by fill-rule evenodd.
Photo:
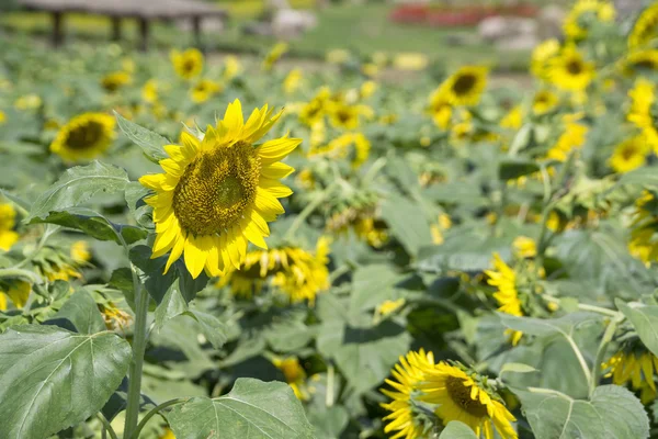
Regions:
M 249 251 L 239 270 L 229 270 L 218 286 L 230 285 L 236 295 L 251 297 L 265 282 L 292 303 L 315 303 L 318 293 L 329 288 L 329 239 L 318 239 L 315 255 L 299 247 Z

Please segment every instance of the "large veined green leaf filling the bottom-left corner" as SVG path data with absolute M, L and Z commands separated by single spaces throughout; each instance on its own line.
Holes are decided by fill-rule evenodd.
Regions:
M 25 325 L 0 335 L 3 439 L 46 438 L 101 409 L 128 369 L 115 334 Z

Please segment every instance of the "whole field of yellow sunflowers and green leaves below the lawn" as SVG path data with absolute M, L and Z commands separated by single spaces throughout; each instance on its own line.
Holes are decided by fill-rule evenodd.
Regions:
M 658 437 L 658 3 L 563 29 L 2 44 L 0 439 Z

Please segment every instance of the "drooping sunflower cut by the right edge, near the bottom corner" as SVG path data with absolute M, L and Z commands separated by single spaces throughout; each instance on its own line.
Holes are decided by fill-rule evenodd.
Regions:
M 613 384 L 625 385 L 631 382 L 633 390 L 640 391 L 642 403 L 648 404 L 656 398 L 654 375 L 658 371 L 658 358 L 636 340 L 624 345 L 601 367 L 609 369 L 605 376 L 612 376 Z

